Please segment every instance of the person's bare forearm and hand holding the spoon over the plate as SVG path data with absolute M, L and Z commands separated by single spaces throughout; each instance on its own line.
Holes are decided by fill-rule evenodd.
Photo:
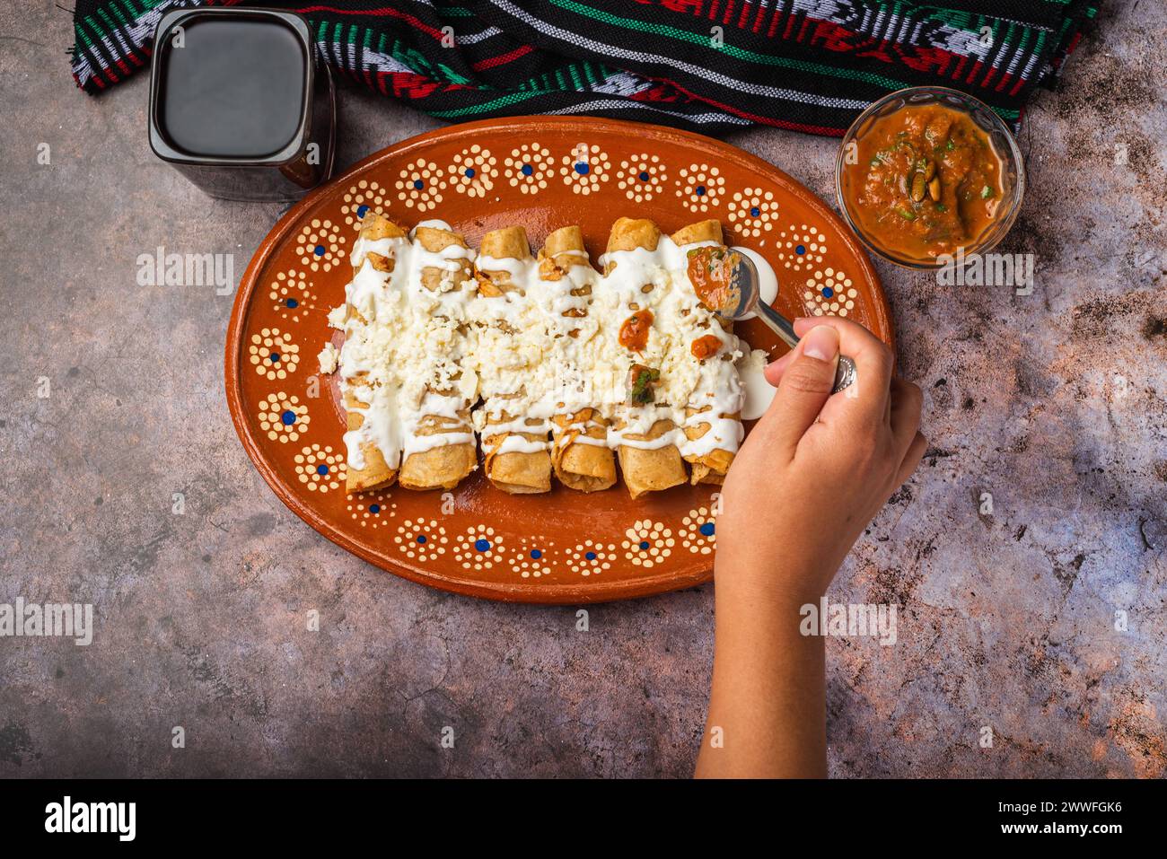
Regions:
M 826 775 L 823 638 L 799 629 L 851 545 L 924 453 L 920 389 L 861 326 L 801 319 L 778 386 L 726 477 L 717 647 L 699 776 Z M 840 351 L 855 382 L 832 394 Z

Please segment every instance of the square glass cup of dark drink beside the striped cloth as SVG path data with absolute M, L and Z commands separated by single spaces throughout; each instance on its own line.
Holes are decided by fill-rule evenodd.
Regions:
M 151 148 L 212 197 L 293 201 L 329 179 L 331 74 L 300 15 L 200 7 L 154 34 Z

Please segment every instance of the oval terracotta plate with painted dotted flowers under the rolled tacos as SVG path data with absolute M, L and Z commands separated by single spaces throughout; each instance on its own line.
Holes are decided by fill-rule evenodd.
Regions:
M 537 247 L 579 224 L 593 261 L 621 215 L 665 232 L 719 218 L 727 244 L 774 266 L 781 312 L 846 315 L 892 342 L 875 271 L 841 222 L 781 170 L 715 140 L 531 117 L 442 128 L 365 159 L 294 207 L 251 260 L 226 341 L 228 403 L 247 454 L 298 516 L 372 564 L 446 591 L 589 602 L 700 584 L 713 572 L 718 496 L 678 487 L 634 502 L 622 484 L 515 496 L 481 469 L 445 495 L 345 494 L 343 413 L 316 354 L 337 334 L 326 315 L 344 302 L 369 210 L 408 226 L 441 218 L 471 246 L 522 224 Z M 785 351 L 757 321 L 736 331 L 774 357 Z

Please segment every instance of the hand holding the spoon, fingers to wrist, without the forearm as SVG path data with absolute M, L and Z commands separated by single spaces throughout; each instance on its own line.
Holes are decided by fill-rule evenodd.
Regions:
M 718 517 L 717 587 L 817 601 L 872 517 L 916 469 L 927 441 L 920 389 L 844 319 L 799 319 L 798 347 L 766 369 L 774 403 L 734 460 Z M 839 354 L 855 382 L 832 396 Z

